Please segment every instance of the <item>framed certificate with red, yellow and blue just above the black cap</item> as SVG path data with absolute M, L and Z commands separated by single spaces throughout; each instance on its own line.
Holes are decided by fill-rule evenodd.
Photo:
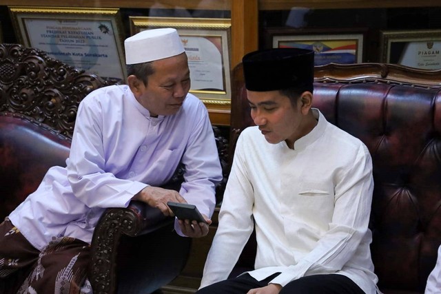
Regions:
M 314 65 L 361 63 L 365 33 L 348 30 L 275 29 L 267 31 L 272 48 L 304 48 L 315 52 Z

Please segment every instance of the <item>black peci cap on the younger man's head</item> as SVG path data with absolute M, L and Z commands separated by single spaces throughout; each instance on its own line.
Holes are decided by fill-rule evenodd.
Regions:
M 297 87 L 313 91 L 314 51 L 299 48 L 258 50 L 243 56 L 247 90 L 265 92 Z

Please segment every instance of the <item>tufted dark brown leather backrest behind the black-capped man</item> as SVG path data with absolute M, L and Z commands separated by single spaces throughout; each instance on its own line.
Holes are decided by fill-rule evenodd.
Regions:
M 240 67 L 233 80 L 233 148 L 253 125 Z M 388 76 L 393 70 L 399 74 Z M 314 83 L 313 106 L 371 152 L 371 253 L 384 293 L 423 293 L 441 244 L 441 74 L 412 74 L 397 65 L 389 71 L 378 64 L 328 65 L 325 74 L 316 68 Z

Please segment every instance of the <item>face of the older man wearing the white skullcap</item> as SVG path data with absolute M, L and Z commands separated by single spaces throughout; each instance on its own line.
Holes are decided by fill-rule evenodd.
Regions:
M 154 74 L 148 76 L 147 85 L 141 82 L 136 99 L 147 108 L 151 116 L 176 114 L 190 89 L 187 54 L 153 61 Z

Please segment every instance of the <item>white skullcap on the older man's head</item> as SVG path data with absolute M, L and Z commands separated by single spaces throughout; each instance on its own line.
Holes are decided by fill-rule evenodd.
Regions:
M 125 39 L 124 47 L 126 64 L 165 59 L 185 52 L 174 28 L 143 30 Z

